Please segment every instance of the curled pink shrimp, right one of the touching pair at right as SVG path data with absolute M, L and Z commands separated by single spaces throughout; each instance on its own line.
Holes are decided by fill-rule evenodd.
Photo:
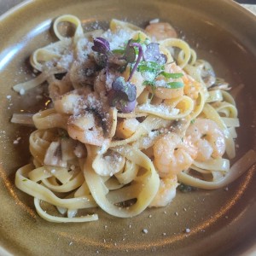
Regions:
M 195 123 L 189 125 L 186 136 L 198 148 L 195 160 L 222 157 L 225 152 L 224 133 L 211 119 L 195 119 Z

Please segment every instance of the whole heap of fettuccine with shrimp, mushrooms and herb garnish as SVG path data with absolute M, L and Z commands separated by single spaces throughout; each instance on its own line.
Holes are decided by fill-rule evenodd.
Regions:
M 230 85 L 170 24 L 113 19 L 107 31 L 84 32 L 77 17 L 62 15 L 53 30 L 58 40 L 30 58 L 38 76 L 14 86 L 22 95 L 46 82 L 49 108 L 12 119 L 36 127 L 15 185 L 42 218 L 93 221 L 96 207 L 133 217 L 166 207 L 179 183 L 218 189 L 253 164 L 249 150 L 230 166 L 239 126 Z

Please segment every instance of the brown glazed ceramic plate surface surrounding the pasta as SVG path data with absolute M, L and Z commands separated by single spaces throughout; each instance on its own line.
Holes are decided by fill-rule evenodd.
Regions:
M 38 0 L 23 3 L 0 19 L 0 254 L 7 255 L 248 255 L 255 253 L 255 166 L 228 189 L 177 193 L 165 208 L 135 218 L 53 224 L 39 218 L 32 197 L 15 188 L 15 171 L 29 160 L 30 129 L 12 125 L 12 113 L 34 112 L 36 99 L 11 87 L 31 78 L 27 64 L 34 49 L 54 41 L 49 27 L 58 15 L 77 15 L 88 28 L 111 18 L 145 26 L 169 21 L 200 58 L 212 62 L 233 87 L 244 84 L 236 99 L 241 128 L 237 157 L 256 149 L 256 18 L 228 0 Z M 107 22 L 107 23 L 106 23 Z M 11 96 L 11 98 L 7 97 Z M 13 142 L 21 137 L 18 144 Z M 143 233 L 147 229 L 148 233 Z M 186 233 L 185 230 L 190 232 Z

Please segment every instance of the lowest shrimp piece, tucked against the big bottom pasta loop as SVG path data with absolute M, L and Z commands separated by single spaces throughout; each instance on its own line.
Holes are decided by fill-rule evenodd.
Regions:
M 160 179 L 160 187 L 154 196 L 149 207 L 166 207 L 176 195 L 177 176 L 165 177 Z

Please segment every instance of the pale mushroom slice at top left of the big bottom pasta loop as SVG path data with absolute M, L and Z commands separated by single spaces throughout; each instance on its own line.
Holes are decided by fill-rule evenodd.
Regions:
M 112 150 L 108 150 L 107 154 L 97 154 L 92 162 L 95 172 L 101 176 L 113 176 L 123 170 L 125 166 L 125 158 Z

